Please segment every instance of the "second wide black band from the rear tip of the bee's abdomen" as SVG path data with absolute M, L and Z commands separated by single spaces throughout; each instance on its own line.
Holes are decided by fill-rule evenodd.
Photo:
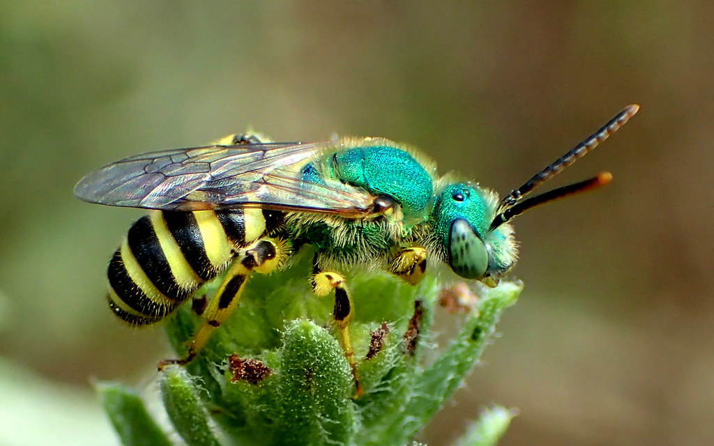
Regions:
M 178 286 L 149 216 L 139 218 L 134 225 L 131 225 L 126 241 L 141 269 L 161 294 L 178 301 L 185 300 L 191 295 L 191 290 L 184 290 Z

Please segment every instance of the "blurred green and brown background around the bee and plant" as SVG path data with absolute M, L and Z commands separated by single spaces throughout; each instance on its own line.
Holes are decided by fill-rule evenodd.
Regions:
M 516 221 L 526 290 L 423 440 L 499 402 L 503 445 L 710 445 L 714 6 L 537 3 L 4 1 L 0 443 L 116 444 L 90 380 L 166 355 L 104 300 L 141 211 L 76 200 L 85 173 L 253 126 L 405 141 L 505 193 L 637 102 L 553 181 L 610 186 Z

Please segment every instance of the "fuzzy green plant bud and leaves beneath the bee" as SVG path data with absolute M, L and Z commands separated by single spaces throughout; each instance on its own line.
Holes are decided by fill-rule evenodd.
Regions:
M 501 311 L 522 288 L 506 281 L 478 288 L 476 308 L 449 315 L 458 319 L 458 333 L 437 345 L 433 315 L 444 310 L 434 278 L 415 287 L 388 273 L 354 273 L 351 333 L 365 393 L 353 400 L 351 370 L 331 333 L 333 299 L 316 298 L 305 277 L 310 258 L 251 277 L 240 307 L 198 358 L 161 373 L 166 413 L 188 445 L 411 444 L 478 362 Z M 178 355 L 198 322 L 184 305 L 166 323 Z M 99 392 L 124 445 L 170 444 L 175 437 L 164 434 L 171 428 L 159 428 L 134 392 L 106 384 Z M 495 444 L 511 416 L 498 407 L 486 412 L 459 444 Z

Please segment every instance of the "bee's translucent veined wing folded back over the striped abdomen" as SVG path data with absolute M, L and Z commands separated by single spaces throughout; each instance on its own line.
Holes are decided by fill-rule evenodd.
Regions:
M 145 153 L 90 173 L 76 196 L 109 206 L 164 211 L 241 207 L 358 218 L 373 196 L 339 181 L 303 180 L 302 169 L 339 143 L 260 143 Z

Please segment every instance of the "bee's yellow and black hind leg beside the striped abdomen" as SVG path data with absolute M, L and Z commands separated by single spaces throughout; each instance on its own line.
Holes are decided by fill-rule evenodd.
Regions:
M 261 274 L 269 273 L 278 268 L 285 258 L 285 244 L 270 238 L 257 240 L 245 250 L 241 250 L 228 268 L 216 295 L 211 298 L 211 302 L 201 313 L 203 324 L 188 344 L 186 357 L 179 360 L 163 360 L 159 363 L 159 370 L 164 370 L 169 364 L 185 365 L 196 358 L 213 330 L 220 327 L 238 306 L 248 275 L 253 271 Z

